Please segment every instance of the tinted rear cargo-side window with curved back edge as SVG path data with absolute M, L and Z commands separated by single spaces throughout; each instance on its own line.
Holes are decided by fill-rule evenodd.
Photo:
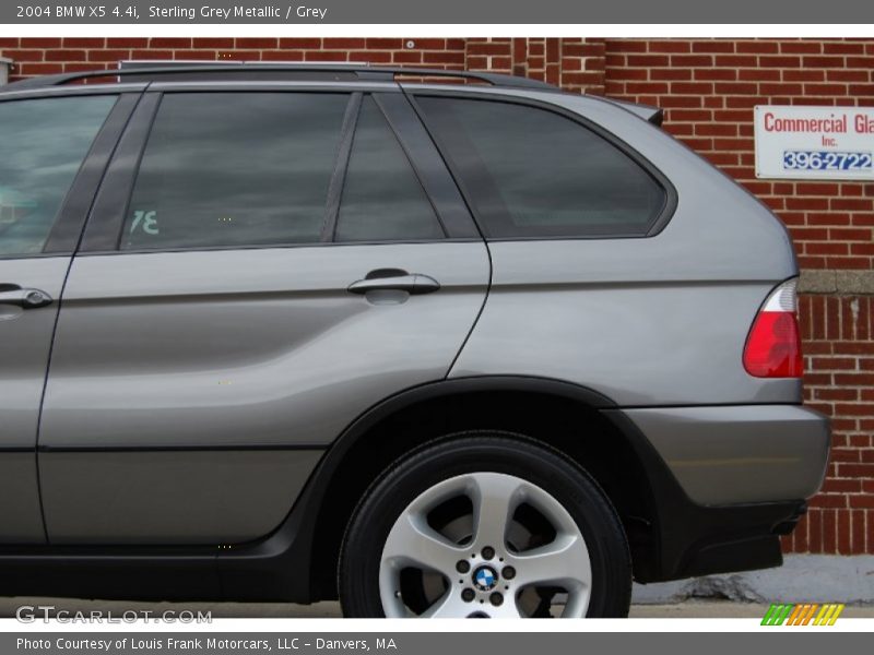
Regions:
M 664 191 L 577 122 L 509 103 L 420 98 L 491 237 L 645 234 Z

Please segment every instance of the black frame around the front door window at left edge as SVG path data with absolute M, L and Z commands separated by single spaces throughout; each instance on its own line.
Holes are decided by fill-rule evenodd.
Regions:
M 42 251 L 22 254 L 0 254 L 0 260 L 70 257 L 75 252 L 82 239 L 85 219 L 93 206 L 97 189 L 103 181 L 119 136 L 125 131 L 137 103 L 140 100 L 141 93 L 135 90 L 118 92 L 104 88 L 96 93 L 79 93 L 69 96 L 22 94 L 21 96 L 0 98 L 0 103 L 15 103 L 37 99 L 50 102 L 58 97 L 93 96 L 115 96 L 115 103 L 97 129 L 94 140 L 91 142 L 79 169 L 70 182 L 69 189 L 67 189 L 61 200 L 55 224 L 46 237 Z

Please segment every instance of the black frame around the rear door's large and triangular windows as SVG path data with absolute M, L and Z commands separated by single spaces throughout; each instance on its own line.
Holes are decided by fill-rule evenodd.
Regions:
M 346 114 L 344 115 L 339 152 L 338 165 L 332 174 L 331 182 L 329 183 L 329 194 L 326 203 L 326 221 L 322 228 L 322 235 L 319 241 L 299 242 L 292 241 L 287 243 L 238 243 L 228 246 L 186 246 L 186 247 L 155 247 L 155 248 L 131 248 L 122 250 L 120 248 L 121 238 L 123 236 L 123 228 L 131 199 L 133 196 L 133 188 L 137 183 L 139 176 L 140 163 L 145 153 L 149 138 L 154 127 L 161 100 L 165 94 L 196 94 L 196 93 L 314 93 L 314 94 L 343 94 L 349 96 L 349 105 Z M 442 229 L 442 238 L 428 238 L 428 239 L 375 239 L 362 241 L 335 241 L 326 239 L 327 229 L 335 231 L 336 218 L 339 216 L 339 204 L 342 199 L 343 182 L 345 180 L 346 168 L 349 166 L 349 157 L 351 155 L 352 143 L 354 140 L 354 130 L 357 123 L 357 115 L 361 110 L 361 104 L 364 96 L 370 95 L 377 104 L 380 112 L 386 118 L 389 128 L 394 134 L 395 139 L 401 145 L 410 166 L 413 168 L 416 179 L 425 190 L 425 195 L 435 212 L 435 216 L 439 222 Z M 421 148 L 418 151 L 410 146 L 408 128 L 398 126 L 397 119 L 393 122 L 392 118 L 397 115 L 395 111 L 387 111 L 382 104 L 379 102 L 379 96 L 397 95 L 404 98 L 404 104 L 409 106 L 404 94 L 399 90 L 390 88 L 347 88 L 345 86 L 321 86 L 312 87 L 240 87 L 240 86 L 223 86 L 223 85 L 208 85 L 208 86 L 191 86 L 178 85 L 173 88 L 167 88 L 165 85 L 150 86 L 147 91 L 142 94 L 140 105 L 131 116 L 128 127 L 121 135 L 116 152 L 109 164 L 108 170 L 104 176 L 103 183 L 97 191 L 96 199 L 92 205 L 92 211 L 88 216 L 84 237 L 81 246 L 76 251 L 78 254 L 146 254 L 146 253 L 163 253 L 163 252 L 199 252 L 199 251 L 225 251 L 225 250 L 264 250 L 264 249 L 288 249 L 288 248 L 314 248 L 324 246 L 379 246 L 392 243 L 441 243 L 441 242 L 469 242 L 482 241 L 482 236 L 479 234 L 476 224 L 472 215 L 465 209 L 466 226 L 461 226 L 459 217 L 453 217 L 452 224 L 445 222 L 444 215 L 447 211 L 444 206 L 435 204 L 429 187 L 435 182 L 434 171 L 422 170 L 418 160 L 421 157 Z M 357 98 L 357 99 L 356 99 Z M 410 107 L 410 115 L 418 122 L 416 114 Z M 354 118 L 351 120 L 350 117 Z M 350 120 L 347 120 L 350 119 Z M 427 134 L 424 126 L 418 122 L 423 132 Z M 437 150 L 436 144 L 429 144 L 434 156 L 442 162 L 442 157 Z M 343 157 L 343 150 L 345 152 L 345 162 L 341 167 L 340 159 Z M 126 163 L 119 162 L 126 160 Z M 444 174 L 449 177 L 449 171 L 444 169 Z M 341 176 L 340 186 L 335 186 L 335 177 Z M 456 189 L 458 191 L 458 189 Z M 336 193 L 336 195 L 332 195 Z M 461 196 L 459 201 L 463 202 Z M 331 204 L 336 203 L 335 213 L 333 217 L 330 216 Z M 120 211 L 120 207 L 123 210 Z M 454 210 L 454 207 L 453 207 Z M 454 214 L 458 212 L 456 211 Z M 333 235 L 333 231 L 331 235 Z

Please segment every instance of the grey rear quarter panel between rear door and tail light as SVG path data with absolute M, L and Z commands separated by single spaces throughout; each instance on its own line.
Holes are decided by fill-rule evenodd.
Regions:
M 451 376 L 557 378 L 619 406 L 800 402 L 800 381 L 753 378 L 742 364 L 768 291 L 798 274 L 779 221 L 624 109 L 590 97 L 525 95 L 629 144 L 674 184 L 676 207 L 646 238 L 491 241 L 489 296 Z

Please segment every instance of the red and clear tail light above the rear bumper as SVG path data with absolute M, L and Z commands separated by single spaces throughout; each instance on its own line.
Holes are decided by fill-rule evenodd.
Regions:
M 756 378 L 801 378 L 798 279 L 771 291 L 756 315 L 744 347 L 744 368 Z

